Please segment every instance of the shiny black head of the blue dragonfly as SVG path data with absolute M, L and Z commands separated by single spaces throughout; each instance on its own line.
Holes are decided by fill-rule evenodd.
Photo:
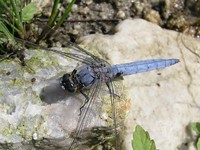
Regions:
M 77 90 L 77 86 L 76 84 L 74 84 L 72 80 L 72 75 L 68 73 L 64 74 L 63 77 L 61 78 L 60 85 L 62 89 L 67 90 L 71 93 L 74 93 Z

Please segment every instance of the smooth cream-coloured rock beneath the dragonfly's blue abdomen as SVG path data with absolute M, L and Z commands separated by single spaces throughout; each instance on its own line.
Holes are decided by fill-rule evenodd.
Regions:
M 79 40 L 112 64 L 156 58 L 178 58 L 163 70 L 125 77 L 131 102 L 125 120 L 124 149 L 130 150 L 137 124 L 155 140 L 157 149 L 194 149 L 189 124 L 199 122 L 200 42 L 141 19 L 125 20 L 114 35 L 89 35 Z

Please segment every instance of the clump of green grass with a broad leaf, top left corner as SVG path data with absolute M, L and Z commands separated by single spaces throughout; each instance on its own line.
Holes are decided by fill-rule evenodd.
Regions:
M 20 0 L 0 0 L 0 8 L 0 54 L 14 54 L 11 50 L 16 45 L 14 36 L 27 36 L 27 23 L 36 13 L 36 4 L 26 4 Z

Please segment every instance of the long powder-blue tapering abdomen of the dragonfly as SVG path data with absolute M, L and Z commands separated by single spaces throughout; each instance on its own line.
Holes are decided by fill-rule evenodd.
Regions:
M 114 77 L 132 75 L 147 72 L 160 68 L 165 68 L 178 63 L 178 59 L 152 59 L 136 61 L 126 64 L 118 64 L 110 67 L 110 72 Z

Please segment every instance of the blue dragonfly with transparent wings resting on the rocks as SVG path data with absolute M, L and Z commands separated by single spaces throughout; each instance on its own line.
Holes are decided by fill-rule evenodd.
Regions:
M 107 86 L 110 94 L 114 127 L 113 134 L 115 137 L 118 137 L 118 125 L 116 121 L 115 110 L 116 94 L 113 82 L 115 80 L 122 80 L 124 76 L 169 67 L 179 62 L 179 59 L 150 59 L 111 65 L 105 59 L 97 57 L 88 50 L 85 50 L 74 43 L 69 43 L 68 45 L 72 51 L 65 52 L 56 49 L 50 49 L 22 39 L 17 39 L 17 41 L 23 43 L 25 46 L 54 52 L 82 63 L 80 67 L 75 68 L 72 72 L 64 74 L 60 79 L 60 86 L 62 89 L 70 93 L 81 93 L 85 99 L 84 103 L 80 107 L 79 119 L 76 125 L 74 136 L 69 146 L 69 150 L 74 149 L 76 145 L 78 145 L 77 137 L 81 136 L 84 128 L 89 122 L 89 108 L 94 105 L 95 99 L 103 87 L 102 84 Z M 85 91 L 89 92 L 86 93 Z M 115 149 L 120 150 L 118 140 L 115 142 Z

